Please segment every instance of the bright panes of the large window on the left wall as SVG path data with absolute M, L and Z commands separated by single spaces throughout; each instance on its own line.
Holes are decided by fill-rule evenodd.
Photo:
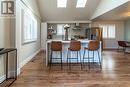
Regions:
M 23 11 L 23 43 L 33 42 L 37 40 L 37 20 L 33 14 Z

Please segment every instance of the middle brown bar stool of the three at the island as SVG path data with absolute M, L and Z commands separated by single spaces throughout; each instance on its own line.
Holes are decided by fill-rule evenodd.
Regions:
M 71 68 L 70 67 L 71 59 L 76 59 L 77 63 L 78 63 L 79 62 L 78 61 L 78 57 L 80 56 L 80 62 L 81 62 L 80 49 L 81 49 L 81 42 L 80 41 L 71 41 L 70 42 L 70 47 L 68 48 L 68 53 L 67 53 L 67 65 L 69 65 L 69 69 Z M 69 55 L 71 56 L 72 52 L 76 52 L 77 53 L 77 58 L 69 57 Z M 82 63 L 81 63 L 81 69 L 82 69 Z

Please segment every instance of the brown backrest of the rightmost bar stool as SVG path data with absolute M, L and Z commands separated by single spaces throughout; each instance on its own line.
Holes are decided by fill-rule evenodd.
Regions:
M 88 50 L 94 51 L 94 50 L 98 50 L 98 49 L 99 49 L 99 41 L 93 40 L 93 41 L 89 42 Z

